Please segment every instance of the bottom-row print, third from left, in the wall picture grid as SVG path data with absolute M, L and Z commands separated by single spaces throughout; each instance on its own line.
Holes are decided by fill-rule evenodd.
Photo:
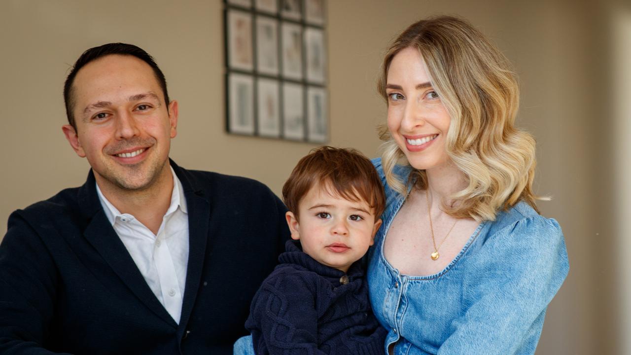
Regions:
M 305 139 L 303 93 L 300 84 L 283 85 L 283 136 L 290 140 Z

